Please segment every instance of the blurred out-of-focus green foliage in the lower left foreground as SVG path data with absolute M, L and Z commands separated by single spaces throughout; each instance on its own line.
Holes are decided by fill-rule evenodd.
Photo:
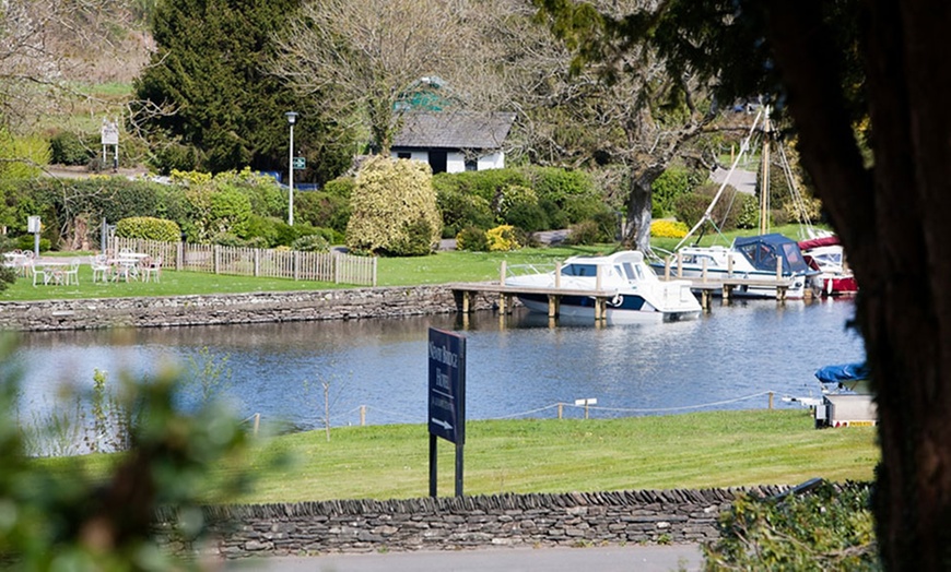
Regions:
M 116 458 L 105 477 L 95 478 L 82 463 L 58 470 L 38 466 L 26 454 L 15 412 L 17 384 L 5 344 L 0 379 L 0 568 L 17 570 L 183 570 L 160 548 L 156 510 L 175 509 L 172 538 L 195 540 L 203 528 L 197 508 L 209 500 L 209 468 L 235 463 L 245 442 L 237 422 L 219 406 L 192 414 L 176 405 L 176 382 L 161 374 L 129 382 L 121 406 L 131 449 Z M 246 489 L 236 470 L 219 479 L 222 497 Z

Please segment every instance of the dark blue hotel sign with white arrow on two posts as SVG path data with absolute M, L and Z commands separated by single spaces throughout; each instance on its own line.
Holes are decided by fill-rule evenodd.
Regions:
M 466 444 L 466 338 L 430 329 L 430 497 L 436 496 L 436 439 L 456 443 L 456 496 L 462 496 Z

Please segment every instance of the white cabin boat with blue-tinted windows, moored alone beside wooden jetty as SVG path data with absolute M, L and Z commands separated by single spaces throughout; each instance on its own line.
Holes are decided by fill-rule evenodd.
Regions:
M 607 257 L 572 257 L 554 272 L 507 277 L 505 286 L 521 288 L 516 293 L 519 301 L 531 311 L 545 313 L 549 293 L 571 293 L 561 296 L 563 318 L 594 320 L 596 299 L 610 296 L 604 315 L 609 324 L 694 320 L 701 313 L 689 282 L 660 281 L 636 250 Z

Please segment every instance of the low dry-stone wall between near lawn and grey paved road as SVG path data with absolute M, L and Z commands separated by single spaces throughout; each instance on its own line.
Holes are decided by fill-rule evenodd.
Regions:
M 704 543 L 740 492 L 784 487 L 342 500 L 206 509 L 225 558 L 486 547 Z M 174 522 L 175 514 L 160 514 Z M 165 524 L 163 528 L 169 529 Z M 183 544 L 173 544 L 184 550 Z

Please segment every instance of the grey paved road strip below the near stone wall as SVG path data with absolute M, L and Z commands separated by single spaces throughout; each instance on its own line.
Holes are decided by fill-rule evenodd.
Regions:
M 702 568 L 697 545 L 274 557 L 233 561 L 226 567 L 228 571 L 269 572 L 694 572 Z

